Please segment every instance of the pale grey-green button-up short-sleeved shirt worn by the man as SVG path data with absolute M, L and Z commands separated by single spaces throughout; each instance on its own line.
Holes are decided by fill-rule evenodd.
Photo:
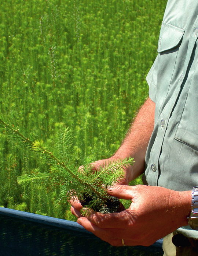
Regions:
M 143 180 L 184 191 L 198 186 L 198 1 L 168 0 L 158 56 L 147 75 L 155 126 Z M 146 122 L 146 120 L 145 120 Z M 198 238 L 197 231 L 179 231 Z

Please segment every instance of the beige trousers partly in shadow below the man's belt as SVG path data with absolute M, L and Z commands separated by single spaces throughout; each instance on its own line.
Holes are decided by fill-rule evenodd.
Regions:
M 198 256 L 198 249 L 192 246 L 179 248 L 172 243 L 173 233 L 163 239 L 164 256 Z

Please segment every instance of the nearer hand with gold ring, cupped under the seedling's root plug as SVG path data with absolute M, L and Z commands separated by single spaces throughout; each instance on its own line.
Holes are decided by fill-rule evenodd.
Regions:
M 80 204 L 76 202 L 71 211 L 78 217 L 79 224 L 113 246 L 122 246 L 122 239 L 128 246 L 149 246 L 177 228 L 188 225 L 191 191 L 116 185 L 110 194 L 132 200 L 129 209 L 121 213 L 95 212 L 85 218 L 80 214 Z

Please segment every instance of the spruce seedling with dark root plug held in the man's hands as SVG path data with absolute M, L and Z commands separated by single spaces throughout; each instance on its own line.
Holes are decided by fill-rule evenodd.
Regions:
M 118 199 L 107 193 L 107 189 L 123 178 L 123 168 L 132 165 L 133 158 L 110 161 L 95 172 L 93 164 L 85 158 L 79 171 L 71 158 L 72 132 L 68 128 L 60 133 L 57 143 L 58 155 L 55 155 L 44 147 L 43 141 L 31 141 L 23 136 L 19 129 L 14 129 L 2 119 L 0 119 L 0 127 L 9 138 L 34 151 L 50 166 L 49 172 L 39 172 L 39 169 L 36 169 L 18 176 L 18 183 L 22 187 L 26 185 L 43 188 L 58 186 L 60 192 L 56 204 L 78 198 L 83 206 L 83 215 L 89 214 L 91 209 L 103 213 L 125 209 Z

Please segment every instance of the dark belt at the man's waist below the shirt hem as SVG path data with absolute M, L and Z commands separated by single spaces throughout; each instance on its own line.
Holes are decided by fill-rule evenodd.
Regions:
M 198 239 L 189 238 L 180 233 L 173 235 L 172 243 L 173 243 L 173 245 L 180 247 L 180 248 L 189 247 L 189 246 L 198 248 Z

